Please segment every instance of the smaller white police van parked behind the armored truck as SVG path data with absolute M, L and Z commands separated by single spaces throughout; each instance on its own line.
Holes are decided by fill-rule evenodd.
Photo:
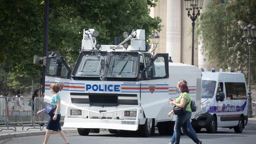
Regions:
M 217 127 L 227 127 L 242 133 L 248 121 L 244 74 L 212 69 L 202 75 L 200 121 L 194 123 L 194 129 L 198 132 L 204 127 L 208 133 L 214 133 Z

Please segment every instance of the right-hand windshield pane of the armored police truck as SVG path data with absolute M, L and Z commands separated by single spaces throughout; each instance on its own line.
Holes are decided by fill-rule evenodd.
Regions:
M 108 57 L 107 78 L 136 78 L 138 53 L 113 52 Z

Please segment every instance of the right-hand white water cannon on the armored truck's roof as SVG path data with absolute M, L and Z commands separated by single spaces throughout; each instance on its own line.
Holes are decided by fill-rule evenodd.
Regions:
M 113 50 L 116 50 L 119 46 L 123 44 L 123 47 L 127 50 L 129 45 L 126 43 L 128 40 L 131 40 L 130 49 L 129 50 L 136 50 L 136 51 L 143 51 L 146 50 L 145 45 L 145 30 L 134 29 L 132 33 L 124 32 L 123 33 L 124 41 L 122 41 L 119 45 L 114 47 Z

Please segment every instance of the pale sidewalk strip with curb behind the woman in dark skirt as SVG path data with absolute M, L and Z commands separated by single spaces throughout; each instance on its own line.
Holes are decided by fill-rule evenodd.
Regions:
M 31 126 L 33 127 L 33 126 Z M 2 130 L 6 129 L 7 127 L 0 127 L 0 140 L 2 139 L 11 139 L 13 137 L 25 137 L 25 136 L 39 136 L 39 135 L 45 135 L 45 130 L 46 127 L 41 127 L 42 130 L 40 129 L 28 129 L 31 128 L 29 126 L 24 127 L 23 126 L 16 126 L 16 132 L 14 130 Z M 9 127 L 10 129 L 14 129 L 14 127 Z M 37 127 L 39 128 L 39 127 Z M 23 129 L 23 130 L 22 130 Z M 27 130 L 28 129 L 28 130 Z M 77 129 L 67 129 L 67 128 L 62 128 L 63 132 L 65 133 L 77 133 Z M 51 132 L 51 133 L 57 133 L 57 132 Z

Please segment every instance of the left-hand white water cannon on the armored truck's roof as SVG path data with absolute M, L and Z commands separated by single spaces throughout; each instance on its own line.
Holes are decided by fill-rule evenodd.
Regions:
M 82 48 L 81 50 L 94 50 L 100 49 L 100 44 L 97 43 L 96 37 L 100 36 L 100 32 L 91 28 L 85 28 L 83 39 L 82 39 Z

